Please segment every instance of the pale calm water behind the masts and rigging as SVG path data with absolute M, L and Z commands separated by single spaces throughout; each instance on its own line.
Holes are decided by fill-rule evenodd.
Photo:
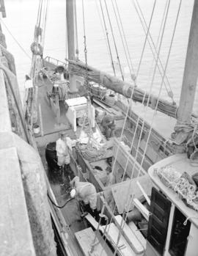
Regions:
M 7 18 L 3 19 L 1 23 L 4 34 L 6 35 L 7 48 L 15 56 L 15 64 L 18 73 L 18 83 L 21 89 L 21 95 L 23 97 L 24 91 L 24 77 L 29 73 L 31 67 L 32 53 L 30 51 L 30 45 L 33 42 L 34 26 L 37 21 L 38 0 L 5 0 L 5 7 L 7 12 Z M 44 57 L 52 56 L 56 59 L 64 61 L 67 56 L 66 53 L 66 19 L 65 19 L 65 0 L 49 0 L 48 1 L 48 17 L 47 26 L 45 31 L 45 45 L 44 45 Z M 84 25 L 83 25 L 83 7 L 81 0 L 76 0 L 77 10 L 77 23 L 78 23 L 78 49 L 79 58 L 84 60 Z M 104 1 L 103 12 L 106 18 L 107 32 L 109 33 L 109 41 L 111 44 L 111 53 L 114 63 L 117 63 L 117 53 L 122 65 L 122 70 L 125 75 L 125 80 L 130 81 L 131 74 L 128 68 L 128 62 L 125 56 L 125 49 L 122 45 L 120 32 L 117 26 L 117 20 L 112 8 L 112 2 L 115 4 L 115 0 L 106 0 L 106 4 L 109 11 L 109 17 L 111 19 L 111 27 L 114 33 L 115 44 L 117 52 L 115 50 L 114 40 L 111 34 L 111 27 L 107 17 Z M 153 37 L 155 45 L 159 45 L 158 35 L 162 32 L 161 21 L 163 18 L 164 8 L 166 6 L 166 0 L 158 0 L 155 4 L 155 10 L 153 12 L 153 20 L 150 26 L 150 34 Z M 139 6 L 144 14 L 147 24 L 150 22 L 150 15 L 153 10 L 153 0 L 139 0 Z M 177 16 L 177 10 L 180 1 L 172 0 L 169 5 L 169 12 L 167 15 L 166 26 L 164 29 L 164 37 L 161 42 L 160 59 L 161 63 L 166 65 L 166 60 L 170 48 L 172 39 L 172 33 L 175 26 L 175 20 Z M 136 77 L 137 85 L 146 89 L 147 92 L 152 92 L 155 95 L 159 95 L 170 100 L 167 91 L 172 90 L 174 100 L 178 104 L 180 99 L 180 89 L 183 81 L 183 69 L 186 59 L 186 50 L 188 44 L 188 34 L 191 23 L 191 13 L 193 7 L 193 0 L 183 0 L 180 8 L 179 18 L 177 22 L 177 29 L 175 32 L 174 42 L 169 56 L 169 62 L 166 69 L 166 76 L 169 79 L 170 88 L 166 89 L 164 86 L 161 89 L 162 78 L 160 73 L 156 72 L 153 76 L 153 70 L 155 70 L 155 62 L 153 62 L 153 54 L 150 50 L 149 43 L 146 43 L 144 54 L 142 56 L 142 48 L 145 41 L 145 33 L 142 29 L 142 23 L 139 21 L 139 16 L 133 6 L 133 0 L 117 0 L 117 7 L 119 15 L 122 21 L 122 27 L 124 29 L 125 40 L 127 41 L 128 49 L 130 52 L 131 63 L 133 65 L 132 73 L 136 75 L 139 66 L 139 61 L 142 56 L 142 63 L 140 65 L 139 74 Z M 100 14 L 100 15 L 99 15 Z M 118 16 L 118 12 L 117 12 Z M 87 60 L 88 64 L 96 67 L 100 70 L 112 73 L 111 59 L 107 48 L 107 41 L 103 27 L 101 26 L 101 11 L 99 0 L 84 0 L 84 17 L 85 17 L 85 32 L 87 43 Z M 4 26 L 4 24 L 6 26 Z M 14 38 L 15 39 L 14 39 Z M 124 40 L 123 32 L 122 39 Z M 18 43 L 23 48 L 19 47 Z M 26 54 L 24 53 L 26 52 Z M 116 64 L 117 76 L 120 76 L 119 66 Z M 131 68 L 132 69 L 132 68 Z M 153 81 L 153 83 L 152 83 Z M 194 100 L 194 113 L 198 114 L 198 95 Z M 147 109 L 144 107 L 139 109 L 135 103 L 133 108 L 144 113 Z M 149 120 L 152 120 L 153 112 L 148 111 Z M 157 114 L 155 118 L 160 120 L 161 114 Z M 168 118 L 168 119 L 167 119 Z M 162 120 L 162 121 L 161 121 Z M 169 131 L 167 129 L 167 123 L 175 123 L 169 117 L 163 117 L 160 121 L 154 121 L 154 126 L 160 126 L 162 131 L 168 136 Z M 151 121 L 150 121 L 151 122 Z M 169 126 L 169 125 L 168 125 Z M 171 127 L 171 129 L 173 126 Z

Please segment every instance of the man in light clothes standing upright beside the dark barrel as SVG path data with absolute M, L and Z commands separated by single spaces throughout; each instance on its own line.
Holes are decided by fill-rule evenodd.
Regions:
M 67 168 L 70 164 L 70 152 L 72 151 L 72 141 L 67 134 L 62 133 L 61 137 L 56 141 L 56 155 L 58 158 L 59 168 L 64 168 L 66 164 Z

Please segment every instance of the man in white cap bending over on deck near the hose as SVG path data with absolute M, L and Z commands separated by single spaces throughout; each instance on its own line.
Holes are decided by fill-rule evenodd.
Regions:
M 98 211 L 96 209 L 97 192 L 95 186 L 92 183 L 80 181 L 78 176 L 70 181 L 70 186 L 73 188 L 70 192 L 70 196 L 77 197 L 78 200 L 83 201 L 85 211 L 91 213 L 95 217 L 98 216 Z

